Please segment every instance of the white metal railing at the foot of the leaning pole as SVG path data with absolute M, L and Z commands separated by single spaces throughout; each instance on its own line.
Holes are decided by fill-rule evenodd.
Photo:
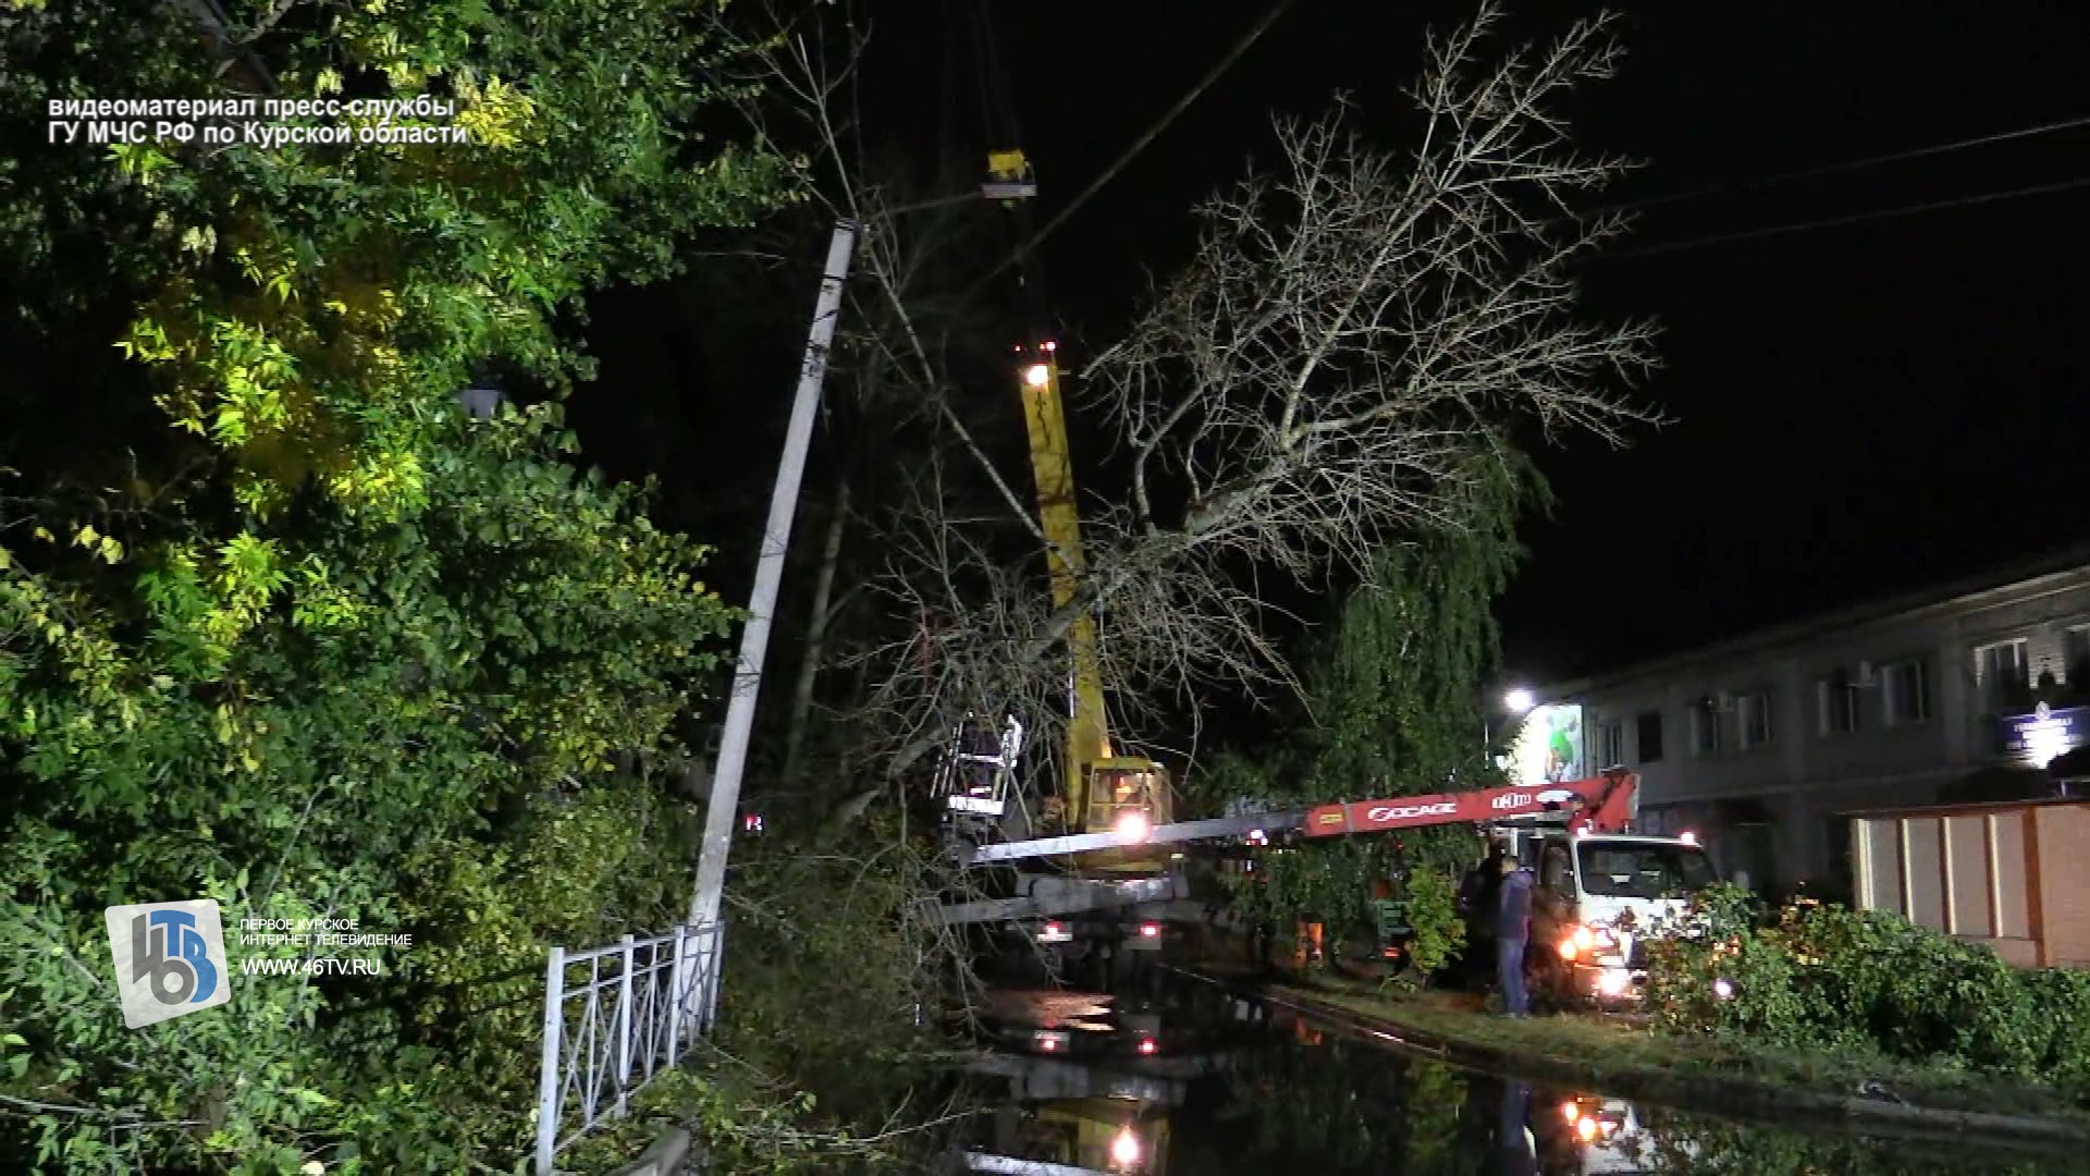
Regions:
M 625 935 L 587 952 L 552 948 L 537 1084 L 537 1176 L 550 1176 L 558 1153 L 598 1124 L 623 1117 L 633 1094 L 711 1032 L 723 950 L 725 929 L 717 923 L 648 940 Z

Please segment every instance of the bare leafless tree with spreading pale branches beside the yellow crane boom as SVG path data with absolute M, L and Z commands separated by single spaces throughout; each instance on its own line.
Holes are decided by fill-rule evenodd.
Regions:
M 1628 163 L 1576 149 L 1561 107 L 1613 73 L 1616 21 L 1490 56 L 1499 17 L 1490 2 L 1430 40 L 1411 153 L 1365 142 L 1340 105 L 1281 119 L 1277 165 L 1195 209 L 1189 262 L 1070 381 L 1129 479 L 1085 496 L 1087 571 L 1058 609 L 1028 471 L 1003 473 L 1022 454 L 991 454 L 953 408 L 949 339 L 922 326 L 938 293 L 926 255 L 945 241 L 855 180 L 828 113 L 838 73 L 786 38 L 775 67 L 840 174 L 834 207 L 865 224 L 865 347 L 943 437 L 880 521 L 886 567 L 869 588 L 890 626 L 853 655 L 865 753 L 907 772 L 959 716 L 1003 709 L 1049 745 L 1085 613 L 1101 621 L 1120 724 L 1221 686 L 1296 693 L 1271 636 L 1296 617 L 1271 588 L 1319 590 L 1388 544 L 1461 527 L 1524 425 L 1609 446 L 1659 425 L 1626 395 L 1655 364 L 1655 329 L 1576 318 L 1576 268 L 1624 228 L 1578 220 L 1576 201 Z M 951 462 L 984 479 L 986 502 L 957 492 Z

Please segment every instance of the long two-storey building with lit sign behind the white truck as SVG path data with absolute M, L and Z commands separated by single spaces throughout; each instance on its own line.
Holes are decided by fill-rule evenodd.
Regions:
M 2090 546 L 1538 691 L 1764 891 L 1850 887 L 1852 810 L 2034 795 L 2090 734 Z M 2075 760 L 2073 755 L 2069 760 Z

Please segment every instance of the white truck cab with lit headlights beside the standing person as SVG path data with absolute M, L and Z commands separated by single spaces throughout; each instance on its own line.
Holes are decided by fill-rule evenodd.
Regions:
M 1697 839 L 1549 831 L 1532 837 L 1532 992 L 1561 1007 L 1634 1007 L 1647 990 L 1647 940 L 1720 881 Z

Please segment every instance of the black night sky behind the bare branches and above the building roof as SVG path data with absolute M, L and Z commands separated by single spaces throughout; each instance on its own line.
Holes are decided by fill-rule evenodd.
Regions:
M 855 8 L 874 25 L 861 134 L 905 151 L 924 176 L 949 153 L 970 182 L 991 146 L 978 2 Z M 991 6 L 1043 186 L 1039 218 L 1262 13 L 1183 0 Z M 1576 111 L 1586 146 L 1647 161 L 1603 199 L 1645 207 L 1616 255 L 1590 266 L 1588 308 L 1664 322 L 1666 368 L 1643 393 L 1676 423 L 1630 452 L 1584 442 L 1540 454 L 1559 506 L 1526 527 L 1532 559 L 1499 611 L 1515 674 L 1618 668 L 2090 538 L 2075 408 L 2090 188 L 1708 241 L 2090 178 L 2090 128 L 2069 128 L 1754 184 L 2090 113 L 2080 82 L 2090 6 L 1827 8 L 1641 0 L 1626 8 L 1622 75 Z M 1070 337 L 1108 339 L 1145 272 L 1172 268 L 1187 207 L 1250 155 L 1271 155 L 1271 111 L 1315 115 L 1346 90 L 1363 130 L 1407 146 L 1398 88 L 1423 31 L 1469 13 L 1300 0 L 1045 245 Z M 1524 4 L 1509 31 L 1551 36 L 1580 13 Z M 1668 199 L 1678 195 L 1689 199 Z M 796 245 L 803 266 L 786 270 L 805 312 L 821 245 L 809 234 Z M 663 475 L 669 523 L 738 519 L 698 534 L 721 546 L 719 586 L 740 598 L 746 571 L 725 552 L 752 552 L 805 314 L 759 331 L 696 331 L 692 314 L 675 291 L 602 299 L 594 343 L 612 395 L 598 408 L 583 395 L 575 419 L 596 460 Z M 727 360 L 698 339 L 721 333 L 734 366 L 773 370 L 773 398 L 721 391 Z M 740 442 L 719 446 L 725 429 Z M 832 458 L 846 437 L 819 444 Z M 1020 454 L 1009 458 L 1020 469 Z

